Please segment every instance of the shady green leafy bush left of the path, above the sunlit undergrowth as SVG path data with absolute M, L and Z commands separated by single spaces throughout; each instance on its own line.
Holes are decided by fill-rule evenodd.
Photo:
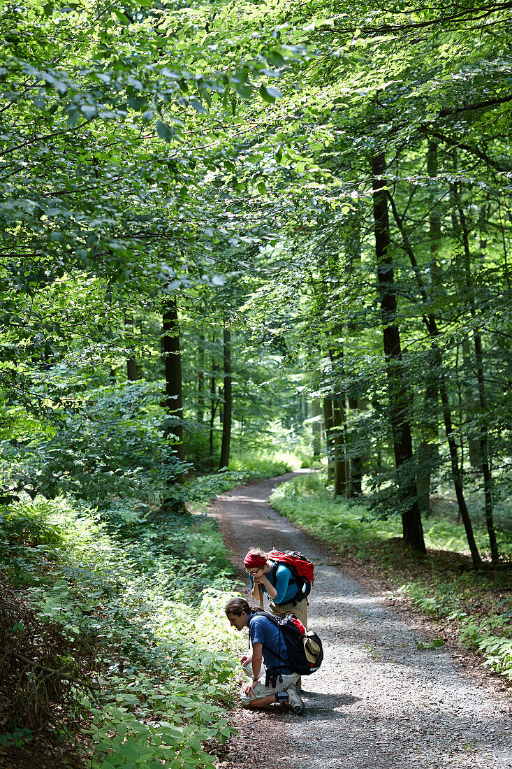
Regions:
M 155 501 L 187 467 L 166 437 L 168 415 L 160 401 L 154 383 L 105 385 L 64 412 L 55 434 L 4 441 L 9 491 L 32 498 L 73 495 L 105 507 L 116 495 Z

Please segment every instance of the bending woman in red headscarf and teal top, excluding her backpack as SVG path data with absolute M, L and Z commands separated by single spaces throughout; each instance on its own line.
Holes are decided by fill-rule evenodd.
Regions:
M 271 561 L 268 553 L 251 548 L 244 558 L 244 567 L 251 578 L 251 595 L 260 600 L 260 588 L 271 598 L 271 614 L 294 614 L 308 627 L 308 599 L 301 598 L 298 584 L 286 564 Z

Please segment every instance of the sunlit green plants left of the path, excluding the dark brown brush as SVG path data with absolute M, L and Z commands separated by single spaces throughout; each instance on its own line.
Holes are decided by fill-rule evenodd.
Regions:
M 148 521 L 140 506 L 102 520 L 36 498 L 12 504 L 0 531 L 2 570 L 30 585 L 38 617 L 69 644 L 94 641 L 101 694 L 80 695 L 93 765 L 211 766 L 204 746 L 233 731 L 222 703 L 234 697 L 239 643 L 224 620 L 232 566 L 213 521 Z

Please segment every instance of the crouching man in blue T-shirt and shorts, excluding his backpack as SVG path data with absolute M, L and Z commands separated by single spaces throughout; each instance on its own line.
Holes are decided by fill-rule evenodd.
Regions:
M 288 704 L 295 714 L 304 713 L 298 693 L 298 673 L 287 667 L 288 654 L 281 630 L 257 608 L 250 608 L 244 598 L 233 598 L 224 610 L 232 628 L 249 628 L 252 653 L 241 657 L 244 671 L 252 678 L 242 688 L 244 707 L 268 707 L 274 702 Z

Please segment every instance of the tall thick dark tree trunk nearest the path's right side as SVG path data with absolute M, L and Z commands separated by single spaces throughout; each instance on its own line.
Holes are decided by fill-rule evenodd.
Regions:
M 381 300 L 391 429 L 398 486 L 404 510 L 402 512 L 402 530 L 404 541 L 415 550 L 424 553 L 426 548 L 421 525 L 421 512 L 416 496 L 411 425 L 407 416 L 411 397 L 404 383 L 400 331 L 397 325 L 397 296 L 394 288 L 394 271 L 390 253 L 391 238 L 387 213 L 387 192 L 384 190 L 387 183 L 382 178 L 386 172 L 383 152 L 372 158 L 371 170 L 374 176 L 375 252 L 377 256 L 379 297 Z

